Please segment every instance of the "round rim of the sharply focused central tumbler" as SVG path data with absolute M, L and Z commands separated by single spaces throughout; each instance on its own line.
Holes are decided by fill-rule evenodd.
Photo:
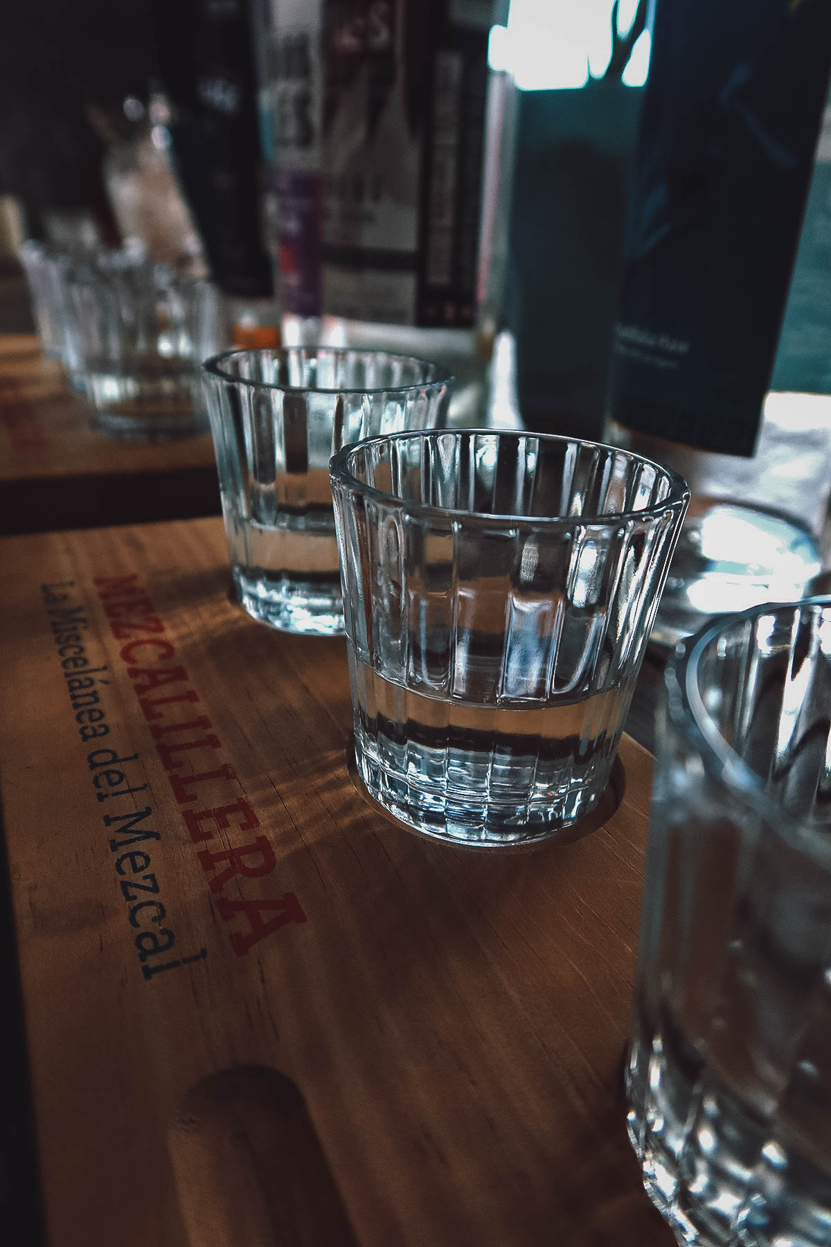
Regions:
M 436 436 L 458 439 L 462 436 L 470 436 L 471 434 L 491 436 L 496 440 L 500 438 L 515 438 L 517 440 L 520 438 L 534 438 L 537 441 L 559 441 L 576 446 L 592 446 L 597 450 L 610 450 L 615 455 L 622 455 L 624 459 L 629 459 L 634 463 L 648 464 L 650 468 L 655 468 L 667 479 L 669 489 L 663 501 L 653 503 L 652 506 L 643 506 L 637 511 L 607 511 L 604 515 L 520 515 L 513 511 L 470 511 L 463 508 L 436 506 L 432 503 L 409 501 L 406 499 L 397 498 L 395 494 L 390 494 L 387 490 L 365 484 L 346 466 L 346 460 L 350 454 L 355 453 L 360 448 L 369 446 L 373 443 L 404 441 L 405 439 L 424 440 L 426 438 Z M 360 490 L 361 494 L 365 494 L 376 503 L 399 506 L 411 515 L 420 515 L 425 519 L 447 518 L 465 519 L 467 521 L 485 520 L 488 524 L 493 524 L 496 521 L 513 527 L 525 525 L 526 527 L 554 529 L 558 526 L 573 527 L 576 524 L 591 524 L 609 527 L 613 524 L 619 524 L 622 520 L 655 519 L 677 506 L 686 509 L 686 504 L 690 498 L 689 486 L 679 473 L 674 471 L 672 468 L 664 466 L 664 464 L 659 464 L 655 459 L 647 458 L 647 455 L 639 455 L 634 450 L 624 450 L 622 446 L 613 446 L 605 441 L 594 441 L 591 438 L 568 438 L 559 433 L 531 433 L 525 429 L 410 429 L 402 430 L 401 433 L 381 433 L 374 438 L 363 438 L 360 441 L 353 441 L 346 446 L 341 446 L 341 449 L 338 450 L 329 460 L 329 475 L 330 478 L 336 478 L 338 481 L 348 489 Z

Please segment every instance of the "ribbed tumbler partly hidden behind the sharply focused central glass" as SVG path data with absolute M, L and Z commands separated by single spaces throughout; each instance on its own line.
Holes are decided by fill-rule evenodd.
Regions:
M 329 460 L 378 433 L 445 420 L 452 378 L 379 350 L 230 350 L 204 365 L 230 569 L 249 615 L 344 631 Z

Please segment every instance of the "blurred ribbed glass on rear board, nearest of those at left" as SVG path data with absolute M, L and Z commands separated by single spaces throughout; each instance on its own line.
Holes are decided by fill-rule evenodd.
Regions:
M 218 292 L 130 249 L 69 262 L 66 358 L 116 438 L 192 436 L 208 426 L 202 360 L 221 345 Z

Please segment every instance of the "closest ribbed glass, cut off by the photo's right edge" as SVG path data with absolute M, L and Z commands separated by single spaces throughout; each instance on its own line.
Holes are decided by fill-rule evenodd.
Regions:
M 679 1243 L 831 1242 L 831 597 L 667 670 L 629 1134 Z

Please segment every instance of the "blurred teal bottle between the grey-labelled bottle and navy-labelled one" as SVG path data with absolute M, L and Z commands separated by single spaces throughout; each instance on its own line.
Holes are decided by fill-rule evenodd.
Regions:
M 507 323 L 522 424 L 599 438 L 627 178 L 649 61 L 647 0 L 512 0 L 517 82 Z

